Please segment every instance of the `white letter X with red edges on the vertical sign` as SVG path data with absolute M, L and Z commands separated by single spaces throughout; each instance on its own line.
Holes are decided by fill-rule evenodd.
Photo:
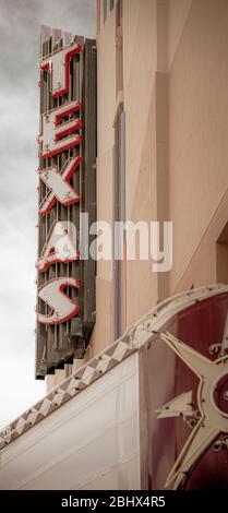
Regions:
M 62 174 L 56 166 L 41 169 L 39 177 L 49 188 L 48 195 L 39 205 L 39 215 L 48 214 L 58 200 L 62 205 L 69 206 L 81 201 L 80 195 L 70 186 L 69 180 L 81 163 L 81 157 L 71 159 L 63 168 Z

